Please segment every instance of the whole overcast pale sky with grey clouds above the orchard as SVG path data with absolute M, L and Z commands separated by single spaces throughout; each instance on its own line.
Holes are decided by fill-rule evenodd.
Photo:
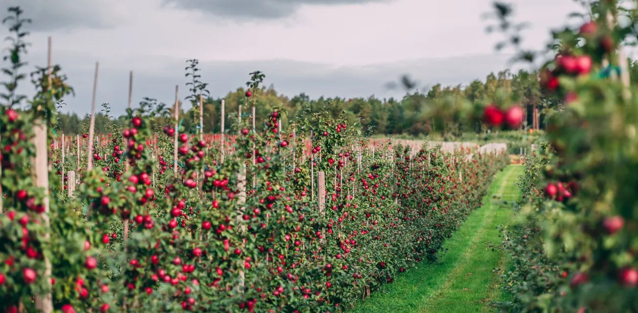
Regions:
M 524 46 L 541 50 L 549 31 L 582 11 L 574 0 L 512 0 L 516 20 L 530 22 Z M 0 0 L 19 4 L 27 25 L 29 71 L 52 59 L 69 75 L 75 98 L 66 108 L 91 110 L 93 72 L 100 62 L 96 107 L 116 114 L 143 97 L 186 96 L 187 59 L 199 59 L 215 98 L 237 89 L 255 70 L 265 85 L 311 98 L 401 96 L 385 83 L 409 74 L 421 86 L 467 84 L 508 67 L 487 34 L 491 0 Z M 0 36 L 6 36 L 6 26 Z M 6 44 L 5 44 L 6 45 Z M 4 79 L 4 78 L 3 78 Z M 20 89 L 33 95 L 30 83 Z

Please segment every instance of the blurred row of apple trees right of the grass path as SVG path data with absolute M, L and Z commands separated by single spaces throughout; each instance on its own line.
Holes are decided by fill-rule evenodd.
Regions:
M 503 233 L 512 298 L 494 304 L 505 312 L 638 310 L 638 98 L 635 85 L 609 78 L 625 74 L 619 43 L 636 39 L 636 11 L 621 5 L 598 1 L 582 27 L 554 34 L 561 51 L 541 79 L 561 101 Z

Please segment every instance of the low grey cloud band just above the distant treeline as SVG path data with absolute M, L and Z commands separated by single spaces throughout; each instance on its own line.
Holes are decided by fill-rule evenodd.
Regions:
M 77 96 L 65 99 L 64 111 L 84 115 L 91 111 L 93 91 L 94 59 L 70 51 L 56 54 L 56 63 L 61 64 L 69 77 L 68 83 L 75 88 Z M 202 81 L 209 83 L 213 98 L 223 97 L 229 91 L 244 86 L 248 73 L 260 70 L 265 73 L 264 84 L 273 84 L 276 91 L 288 97 L 305 92 L 313 99 L 320 96 L 355 98 L 375 95 L 377 98 L 401 98 L 404 91 L 389 90 L 385 84 L 397 81 L 408 74 L 419 82 L 419 86 L 441 83 L 443 85 L 468 84 L 484 78 L 490 72 L 508 68 L 510 55 L 470 55 L 443 59 L 419 59 L 395 63 L 376 64 L 363 67 L 331 68 L 325 64 L 287 60 L 244 62 L 200 62 Z M 44 59 L 38 52 L 29 54 L 29 59 Z M 34 63 L 31 63 L 34 64 Z M 138 64 L 137 68 L 136 65 Z M 142 64 L 142 65 L 140 65 Z M 148 64 L 161 64 L 151 68 Z M 110 103 L 112 113 L 124 113 L 128 101 L 128 71 L 133 69 L 133 105 L 144 97 L 155 98 L 171 104 L 175 99 L 175 85 L 179 85 L 180 99 L 187 94 L 184 77 L 185 60 L 171 57 L 144 57 L 144 60 L 102 60 L 98 78 L 96 108 Z M 19 92 L 33 96 L 33 87 L 28 82 L 20 85 Z

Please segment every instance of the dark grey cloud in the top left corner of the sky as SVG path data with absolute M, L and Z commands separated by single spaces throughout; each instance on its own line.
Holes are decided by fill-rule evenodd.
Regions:
M 110 29 L 126 18 L 122 7 L 108 0 L 0 0 L 0 8 L 10 6 L 20 6 L 24 18 L 31 18 L 28 29 L 34 32 Z

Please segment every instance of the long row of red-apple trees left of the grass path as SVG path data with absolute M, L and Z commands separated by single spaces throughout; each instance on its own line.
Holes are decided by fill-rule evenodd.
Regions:
M 219 152 L 209 153 L 183 127 L 154 124 L 167 112 L 145 98 L 128 110 L 128 126 L 112 129 L 109 145 L 94 146 L 95 167 L 81 171 L 73 196 L 60 192 L 59 176 L 60 166 L 66 173 L 73 165 L 53 154 L 50 162 L 60 163 L 48 176 L 47 214 L 30 161 L 33 126 L 55 126 L 56 103 L 68 86 L 44 80 L 26 110 L 15 110 L 26 101 L 15 94 L 26 33 L 22 12 L 10 12 L 16 41 L 0 108 L 6 312 L 34 312 L 33 297 L 49 292 L 61 312 L 343 311 L 397 273 L 436 258 L 507 164 L 505 154 L 468 159 L 469 151 L 440 147 L 414 156 L 410 147 L 371 151 L 359 124 L 325 112 L 297 116 L 294 132 L 280 133 L 286 112 L 279 108 L 261 133 L 249 119 L 236 119 L 234 152 L 218 164 Z M 249 105 L 259 105 L 251 89 L 262 78 L 255 72 L 248 82 Z M 308 157 L 302 140 L 310 133 Z M 319 171 L 325 194 L 311 183 Z

